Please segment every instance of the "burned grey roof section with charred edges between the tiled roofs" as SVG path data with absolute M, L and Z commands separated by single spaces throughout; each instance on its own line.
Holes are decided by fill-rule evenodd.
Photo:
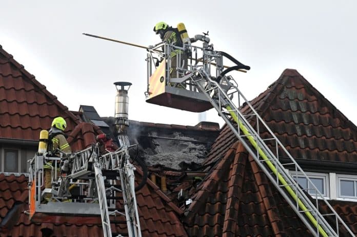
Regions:
M 103 120 L 114 134 L 114 119 Z M 204 161 L 219 131 L 219 124 L 212 122 L 184 126 L 129 120 L 128 137 L 131 144 L 139 145 L 139 155 L 148 165 L 181 170 L 189 168 L 191 162 Z

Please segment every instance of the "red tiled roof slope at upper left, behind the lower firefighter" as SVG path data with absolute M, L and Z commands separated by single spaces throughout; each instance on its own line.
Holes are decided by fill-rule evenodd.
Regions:
M 67 121 L 66 131 L 79 122 L 57 97 L 0 46 L 0 138 L 38 140 L 53 118 Z

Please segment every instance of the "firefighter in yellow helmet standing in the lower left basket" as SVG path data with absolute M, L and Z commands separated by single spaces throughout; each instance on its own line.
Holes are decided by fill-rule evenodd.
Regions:
M 52 156 L 58 155 L 55 149 L 60 149 L 65 153 L 71 153 L 71 147 L 69 146 L 64 131 L 67 127 L 66 120 L 62 117 L 56 117 L 53 119 L 51 128 L 49 131 L 48 137 L 48 145 L 47 145 L 47 152 L 52 153 Z M 51 180 L 52 180 L 52 169 L 54 168 L 53 162 L 47 162 L 44 164 L 44 171 L 45 171 L 45 188 L 51 188 Z M 57 177 L 60 174 L 60 168 L 57 166 Z M 45 200 L 49 201 L 51 198 L 50 193 L 46 193 Z

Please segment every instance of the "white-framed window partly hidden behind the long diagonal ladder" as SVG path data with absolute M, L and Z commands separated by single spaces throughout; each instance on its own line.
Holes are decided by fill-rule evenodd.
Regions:
M 306 172 L 305 174 L 307 175 L 307 177 L 309 177 L 311 182 L 308 182 L 304 175 L 299 172 L 296 173 L 295 171 L 290 171 L 290 174 L 303 189 L 308 189 L 306 191 L 311 196 L 315 196 L 315 191 L 313 189 L 310 189 L 312 188 L 311 183 L 315 185 L 315 187 L 321 192 L 323 196 L 329 196 L 328 174 Z

